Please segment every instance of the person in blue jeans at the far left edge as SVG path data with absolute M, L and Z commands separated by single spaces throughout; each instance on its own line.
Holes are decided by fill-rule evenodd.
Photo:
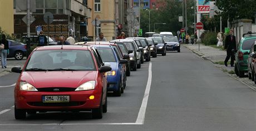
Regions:
M 0 44 L 4 45 L 4 48 L 0 51 L 1 55 L 1 65 L 2 69 L 7 68 L 7 55 L 9 54 L 9 44 L 6 39 L 6 35 L 2 35 L 2 40 L 0 40 Z

